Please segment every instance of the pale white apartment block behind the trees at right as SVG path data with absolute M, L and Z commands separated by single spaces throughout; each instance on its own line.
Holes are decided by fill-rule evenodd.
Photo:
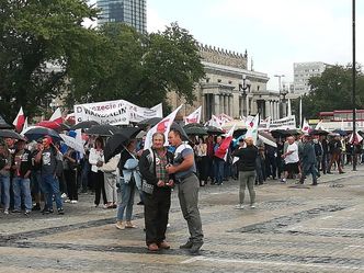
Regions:
M 327 66 L 322 61 L 294 62 L 294 92 L 297 94 L 308 93 L 310 90 L 309 79 L 321 76 Z

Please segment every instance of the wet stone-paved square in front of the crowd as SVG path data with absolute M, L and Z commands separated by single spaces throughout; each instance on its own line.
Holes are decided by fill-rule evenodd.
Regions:
M 1 213 L 0 272 L 364 272 L 364 167 L 350 168 L 318 186 L 268 181 L 255 187 L 254 209 L 234 209 L 237 181 L 202 187 L 200 255 L 178 249 L 187 227 L 175 193 L 172 249 L 158 253 L 145 247 L 143 206 L 139 228 L 126 230 L 114 227 L 116 209 L 92 207 L 92 195 L 65 204 L 64 216 Z

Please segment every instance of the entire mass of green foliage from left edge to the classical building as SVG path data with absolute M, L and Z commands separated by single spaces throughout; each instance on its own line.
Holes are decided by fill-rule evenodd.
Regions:
M 0 2 L 0 109 L 8 120 L 20 106 L 26 115 L 44 113 L 60 94 L 68 106 L 114 99 L 151 106 L 172 90 L 194 100 L 204 69 L 186 30 L 175 23 L 152 34 L 116 23 L 86 29 L 83 20 L 98 15 L 87 2 Z

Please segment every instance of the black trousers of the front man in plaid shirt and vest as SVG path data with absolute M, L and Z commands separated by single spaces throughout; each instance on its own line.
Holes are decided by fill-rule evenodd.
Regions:
M 152 194 L 144 194 L 146 243 L 160 243 L 166 239 L 168 214 L 171 207 L 171 190 L 155 189 Z

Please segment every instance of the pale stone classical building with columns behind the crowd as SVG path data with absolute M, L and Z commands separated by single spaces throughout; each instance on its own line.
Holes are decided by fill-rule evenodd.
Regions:
M 247 52 L 238 54 L 201 44 L 198 48 L 206 76 L 196 83 L 196 101 L 193 105 L 185 104 L 180 114 L 189 115 L 202 105 L 203 121 L 221 113 L 235 118 L 257 113 L 260 113 L 262 118 L 278 118 L 278 92 L 266 90 L 266 73 L 248 69 Z M 184 103 L 174 92 L 169 94 L 169 101 L 173 109 Z

